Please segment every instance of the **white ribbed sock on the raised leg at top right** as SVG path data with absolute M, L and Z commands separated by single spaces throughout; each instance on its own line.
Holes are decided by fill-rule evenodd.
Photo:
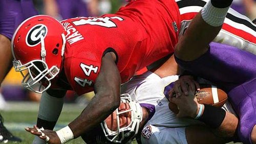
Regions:
M 208 1 L 202 9 L 202 18 L 210 26 L 219 27 L 223 24 L 229 7 L 216 8 Z

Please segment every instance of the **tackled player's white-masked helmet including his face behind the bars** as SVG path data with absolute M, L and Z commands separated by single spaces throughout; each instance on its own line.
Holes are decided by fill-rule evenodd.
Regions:
M 136 136 L 142 117 L 140 104 L 133 101 L 130 94 L 121 94 L 120 106 L 101 123 L 101 128 L 106 139 L 121 143 Z

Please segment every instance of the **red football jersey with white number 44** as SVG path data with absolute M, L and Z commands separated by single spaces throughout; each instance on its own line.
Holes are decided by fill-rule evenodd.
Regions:
M 117 56 L 122 83 L 137 70 L 174 52 L 180 14 L 174 0 L 132 1 L 115 14 L 61 21 L 65 27 L 65 73 L 77 94 L 93 90 L 101 58 Z

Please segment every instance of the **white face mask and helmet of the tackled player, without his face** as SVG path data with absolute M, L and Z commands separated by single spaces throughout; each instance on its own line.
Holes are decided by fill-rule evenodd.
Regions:
M 129 103 L 130 109 L 125 111 L 119 111 L 116 109 L 117 115 L 117 130 L 113 131 L 108 128 L 108 125 L 104 121 L 101 123 L 101 128 L 105 134 L 106 139 L 114 143 L 121 143 L 123 139 L 133 139 L 139 130 L 140 122 L 142 121 L 142 108 L 138 102 L 132 100 L 130 94 L 121 94 L 121 103 Z M 119 115 L 131 112 L 131 122 L 126 127 L 120 128 Z

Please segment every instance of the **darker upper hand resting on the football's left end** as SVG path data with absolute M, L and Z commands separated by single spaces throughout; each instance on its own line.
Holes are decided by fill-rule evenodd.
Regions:
M 169 91 L 169 95 L 175 95 L 175 97 L 180 97 L 183 92 L 185 95 L 188 95 L 188 91 L 196 93 L 197 90 L 200 90 L 200 85 L 197 81 L 194 80 L 193 76 L 181 76 L 178 81 L 175 82 L 173 90 Z

